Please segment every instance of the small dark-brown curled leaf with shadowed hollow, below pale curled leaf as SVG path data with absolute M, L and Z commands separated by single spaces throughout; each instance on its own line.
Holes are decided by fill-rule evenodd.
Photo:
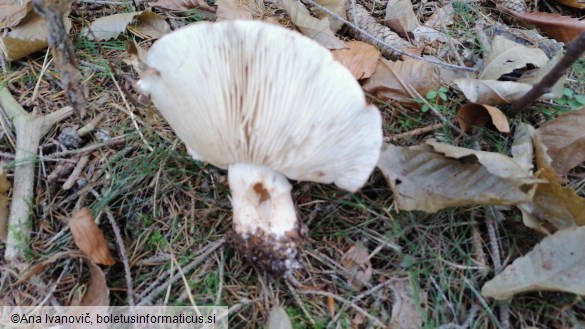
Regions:
M 503 133 L 510 132 L 508 118 L 504 112 L 490 105 L 465 104 L 457 112 L 457 119 L 463 132 L 467 132 L 472 126 L 483 127 L 488 123 L 492 123 L 496 129 Z

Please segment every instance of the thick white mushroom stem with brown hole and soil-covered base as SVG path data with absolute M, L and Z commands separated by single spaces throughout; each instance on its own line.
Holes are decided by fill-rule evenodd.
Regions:
M 274 274 L 297 269 L 301 225 L 286 177 L 265 166 L 237 163 L 229 165 L 228 179 L 236 247 Z

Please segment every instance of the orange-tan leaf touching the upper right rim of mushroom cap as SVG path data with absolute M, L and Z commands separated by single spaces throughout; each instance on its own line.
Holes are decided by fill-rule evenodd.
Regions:
M 349 41 L 346 47 L 346 49 L 332 50 L 333 58 L 347 67 L 356 79 L 371 77 L 376 70 L 380 51 L 361 41 Z

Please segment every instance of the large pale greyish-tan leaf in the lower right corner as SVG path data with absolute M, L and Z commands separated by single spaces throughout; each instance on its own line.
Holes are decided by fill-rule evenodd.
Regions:
M 487 297 L 509 299 L 535 290 L 585 295 L 585 227 L 560 230 L 544 238 L 481 289 Z

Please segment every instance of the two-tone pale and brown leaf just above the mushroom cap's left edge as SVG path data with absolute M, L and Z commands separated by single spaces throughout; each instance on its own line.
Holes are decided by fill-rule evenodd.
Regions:
M 136 23 L 131 25 L 134 20 Z M 85 29 L 83 33 L 90 40 L 107 41 L 117 38 L 120 33 L 126 31 L 126 28 L 131 29 L 140 37 L 154 39 L 171 30 L 159 14 L 150 11 L 136 11 L 100 17 L 91 23 L 89 30 Z

